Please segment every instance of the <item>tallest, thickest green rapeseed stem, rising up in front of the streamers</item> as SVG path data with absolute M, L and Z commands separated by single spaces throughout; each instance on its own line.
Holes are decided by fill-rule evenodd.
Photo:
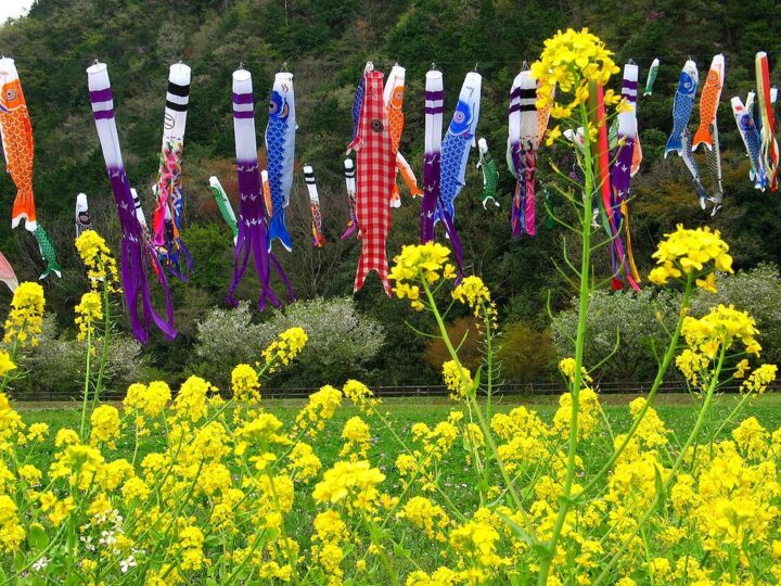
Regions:
M 580 117 L 584 122 L 584 128 L 588 128 L 588 111 L 585 104 L 580 104 Z M 559 514 L 551 538 L 547 544 L 546 555 L 540 560 L 540 570 L 537 584 L 545 586 L 548 583 L 548 574 L 550 573 L 551 562 L 555 556 L 556 545 L 561 537 L 562 528 L 566 514 L 572 505 L 572 485 L 575 476 L 575 459 L 578 447 L 578 415 L 580 411 L 580 385 L 582 384 L 582 361 L 584 346 L 586 342 L 586 318 L 588 316 L 589 292 L 590 292 L 590 264 L 591 264 L 591 200 L 594 191 L 593 178 L 593 158 L 591 156 L 591 143 L 589 140 L 584 142 L 584 173 L 586 181 L 584 186 L 584 202 L 581 235 L 582 250 L 580 254 L 580 293 L 578 306 L 578 331 L 575 341 L 575 372 L 573 373 L 573 382 L 571 385 L 572 393 L 572 415 L 569 418 L 569 442 L 567 449 L 566 473 L 564 475 L 563 494 L 560 499 Z

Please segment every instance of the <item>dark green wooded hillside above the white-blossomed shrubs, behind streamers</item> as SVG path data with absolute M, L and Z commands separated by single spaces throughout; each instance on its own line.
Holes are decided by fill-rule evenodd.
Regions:
M 185 285 L 172 283 L 179 337 L 166 343 L 155 336 L 145 351 L 157 368 L 181 371 L 196 322 L 210 307 L 223 303 L 232 273 L 230 232 L 212 200 L 207 179 L 219 176 L 235 207 L 230 79 L 240 63 L 253 73 L 258 133 L 266 127 L 264 102 L 273 74 L 286 66 L 295 75 L 297 171 L 289 214 L 295 249 L 281 253 L 281 262 L 300 297 L 349 295 L 359 247 L 355 241 L 338 239 L 347 221 L 342 161 L 351 131 L 355 86 L 364 62 L 371 60 L 385 72 L 395 62 L 407 67 L 401 150 L 419 175 L 425 72 L 433 63 L 444 72 L 446 119 L 464 74 L 476 68 L 483 75 L 478 135 L 488 139 L 499 161 L 502 206 L 483 209 L 482 177 L 473 152 L 468 184 L 458 200 L 457 226 L 466 264 L 490 286 L 502 321 L 543 330 L 550 323 L 548 298 L 559 310 L 572 297 L 554 262 L 561 258 L 562 246 L 573 242 L 560 228 L 541 228 L 533 240 L 511 240 L 512 180 L 503 145 L 513 77 L 524 62 L 535 60 L 549 35 L 567 26 L 588 26 L 615 51 L 618 63 L 633 60 L 641 67 L 642 81 L 651 61 L 655 56 L 662 61 L 653 95 L 639 102 L 644 161 L 632 184 L 632 235 L 641 272 L 650 266 L 661 234 L 678 222 L 721 230 L 732 244 L 738 269 L 781 263 L 781 196 L 753 189 L 748 161 L 728 106 L 729 98 L 745 97 L 753 87 L 754 54 L 759 50 L 770 55 L 771 79 L 781 82 L 781 21 L 746 17 L 777 10 L 773 0 L 37 0 L 27 17 L 0 27 L 0 52 L 13 56 L 20 71 L 35 133 L 38 214 L 64 268 L 61 280 L 50 278 L 44 283 L 48 310 L 56 313 L 62 327 L 69 327 L 72 306 L 85 288 L 72 244 L 76 193 L 90 196 L 97 230 L 115 250 L 118 242 L 87 93 L 85 69 L 95 59 L 108 64 L 126 167 L 148 214 L 152 195 L 142 186 L 151 186 L 157 171 L 168 66 L 182 60 L 193 71 L 182 235 L 195 273 Z M 662 153 L 671 128 L 671 101 L 681 65 L 688 56 L 694 59 L 702 80 L 718 52 L 727 59 L 719 110 L 727 201 L 724 211 L 710 218 L 700 209 L 682 162 L 675 156 L 664 160 Z M 619 84 L 616 76 L 615 89 Z M 696 119 L 695 110 L 692 120 Z M 566 164 L 562 153 L 542 150 L 540 183 L 550 181 L 551 161 Z M 329 239 L 321 251 L 310 245 L 308 198 L 299 173 L 304 164 L 315 167 L 320 188 Z M 0 218 L 10 217 L 14 193 L 10 177 L 0 174 Z M 418 240 L 420 204 L 406 192 L 402 199 L 404 206 L 394 212 L 389 258 L 402 244 Z M 560 214 L 567 213 L 555 198 L 551 205 Z M 541 203 L 538 211 L 545 216 Z M 8 221 L 0 222 L 0 250 L 20 279 L 36 279 L 40 273 L 35 240 L 22 229 L 12 232 Z M 606 254 L 598 259 L 598 267 L 603 270 L 599 277 L 609 276 Z M 254 303 L 254 275 L 245 278 L 239 293 Z M 0 297 L 8 298 L 8 292 L 0 292 Z M 387 301 L 374 278 L 356 300 L 386 331 L 384 349 L 368 367 L 369 379 L 398 382 L 412 369 L 420 382 L 436 380 L 432 369 L 419 366 L 423 342 L 412 342 L 404 326 L 404 320 L 418 317 Z

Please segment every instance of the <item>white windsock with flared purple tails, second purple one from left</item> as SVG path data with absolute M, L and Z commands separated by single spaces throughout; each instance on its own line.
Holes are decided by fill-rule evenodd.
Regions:
M 252 75 L 246 69 L 233 72 L 233 132 L 239 179 L 239 238 L 233 251 L 233 280 L 228 289 L 227 302 L 234 307 L 239 305 L 233 294 L 244 277 L 252 254 L 260 281 L 258 309 L 263 311 L 267 303 L 274 307 L 282 306 L 269 282 L 272 266 L 282 279 L 291 301 L 295 300 L 295 295 L 287 276 L 273 254 L 269 253 L 268 212 L 257 158 Z

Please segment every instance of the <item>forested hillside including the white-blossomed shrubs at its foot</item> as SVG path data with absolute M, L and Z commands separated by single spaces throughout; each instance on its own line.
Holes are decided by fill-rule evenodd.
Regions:
M 87 91 L 86 68 L 95 60 L 108 65 L 125 165 L 148 214 L 155 182 L 169 65 L 183 61 L 193 78 L 184 141 L 184 219 L 182 239 L 194 270 L 188 283 L 171 280 L 178 336 L 158 333 L 145 347 L 129 335 L 112 347 L 112 383 L 165 377 L 172 383 L 190 374 L 219 380 L 226 365 L 252 360 L 289 326 L 309 331 L 310 344 L 298 364 L 271 386 L 311 386 L 327 378 L 334 384 L 361 377 L 367 384 L 437 383 L 445 348 L 410 336 L 421 316 L 388 300 L 375 277 L 353 295 L 360 243 L 340 237 L 348 219 L 343 160 L 351 136 L 356 85 L 367 61 L 387 73 L 394 63 L 407 68 L 406 127 L 401 151 L 415 174 L 423 160 L 423 80 L 436 67 L 445 78 L 445 116 L 449 119 L 458 88 L 468 72 L 483 75 L 477 136 L 487 139 L 499 163 L 500 206 L 484 208 L 483 179 L 473 149 L 466 186 L 457 200 L 456 225 L 464 247 L 466 272 L 481 276 L 497 302 L 501 323 L 498 357 L 508 382 L 545 382 L 555 377 L 568 352 L 572 300 L 577 291 L 563 275 L 563 254 L 578 246 L 576 235 L 555 219 L 572 211 L 552 186 L 553 166 L 572 165 L 567 152 L 542 148 L 538 157 L 538 234 L 512 239 L 510 200 L 514 178 L 504 163 L 508 102 L 515 75 L 538 58 L 543 39 L 558 29 L 588 27 L 615 52 L 619 65 L 632 60 L 644 82 L 654 58 L 661 67 L 654 91 L 638 102 L 643 161 L 631 186 L 631 235 L 641 275 L 663 234 L 683 224 L 709 226 L 730 243 L 735 275 L 724 280 L 724 303 L 741 304 L 754 315 L 760 342 L 771 361 L 781 356 L 781 212 L 779 193 L 757 191 L 748 179 L 750 161 L 729 107 L 733 95 L 755 87 L 754 55 L 766 51 L 771 80 L 781 82 L 781 21 L 772 0 L 37 0 L 29 15 L 0 25 L 0 52 L 16 61 L 35 137 L 35 196 L 63 268 L 42 281 L 47 296 L 44 335 L 25 358 L 30 387 L 67 388 L 63 372 L 77 372 L 81 351 L 74 337 L 73 306 L 87 277 L 74 247 L 76 194 L 89 196 L 95 230 L 113 251 L 119 227 L 105 174 Z M 746 17 L 751 15 L 752 17 Z M 726 84 L 718 111 L 725 204 L 715 216 L 703 212 L 682 161 L 664 157 L 673 128 L 673 97 L 687 59 L 704 79 L 710 59 L 726 56 Z M 293 73 L 298 130 L 295 181 L 287 212 L 291 253 L 277 252 L 299 302 L 276 311 L 256 310 L 258 284 L 246 278 L 239 309 L 225 304 L 232 276 L 233 243 L 208 190 L 219 177 L 234 208 L 238 186 L 231 110 L 231 73 L 242 64 L 255 84 L 256 125 L 261 163 L 266 95 L 274 74 Z M 618 91 L 620 76 L 611 81 Z M 692 120 L 699 119 L 697 106 Z M 696 155 L 704 167 L 704 157 Z M 320 192 L 328 244 L 311 245 L 308 195 L 302 168 L 311 165 Z M 3 164 L 0 163 L 0 167 Z M 4 168 L 2 169 L 4 171 Z M 550 189 L 548 189 L 550 186 Z M 0 174 L 0 218 L 10 218 L 15 187 Z M 387 254 L 419 240 L 420 201 L 401 189 L 402 205 L 393 211 Z M 440 237 L 446 242 L 444 234 Z M 31 233 L 0 222 L 0 251 L 20 280 L 37 280 L 44 265 Z M 605 249 L 594 258 L 589 345 L 597 364 L 610 354 L 616 335 L 620 352 L 596 375 L 610 381 L 644 381 L 643 367 L 663 335 L 662 319 L 651 309 L 668 303 L 656 289 L 611 292 Z M 274 286 L 281 286 L 274 282 Z M 730 296 L 732 292 L 732 296 Z M 664 295 L 675 296 L 675 292 Z M 7 290 L 0 297 L 10 301 Z M 669 302 L 670 304 L 673 302 Z M 3 303 L 5 305 L 5 303 Z M 704 310 L 704 303 L 701 304 Z M 696 303 L 694 304 L 696 310 Z M 459 313 L 461 311 L 461 313 Z M 466 309 L 448 315 L 454 337 L 465 336 L 464 364 L 479 360 L 479 333 Z M 675 316 L 673 316 L 675 319 Z M 124 327 L 127 330 L 127 324 Z M 471 357 L 471 358 L 470 358 Z M 74 374 L 78 377 L 77 374 Z M 110 386 L 111 386 L 110 384 Z M 20 388 L 23 393 L 25 388 Z

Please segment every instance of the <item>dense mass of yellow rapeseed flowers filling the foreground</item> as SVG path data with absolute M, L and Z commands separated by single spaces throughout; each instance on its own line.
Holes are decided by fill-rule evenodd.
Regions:
M 562 368 L 567 377 L 571 366 Z M 254 377 L 242 370 L 246 377 L 236 380 L 248 382 L 239 386 L 255 388 Z M 774 377 L 774 367 L 759 367 L 746 375 L 744 392 L 758 394 Z M 121 409 L 99 405 L 92 411 L 89 444 L 67 428 L 50 438 L 48 426 L 26 426 L 0 394 L 5 444 L 0 453 L 0 551 L 33 564 L 43 555 L 41 535 L 59 540 L 63 527 L 74 527 L 84 583 L 128 576 L 183 584 L 207 575 L 229 582 L 251 572 L 307 585 L 360 576 L 385 582 L 388 560 L 396 568 L 407 557 L 415 563 L 408 560 L 409 570 L 394 570 L 405 585 L 535 578 L 539 558 L 533 546 L 550 538 L 564 494 L 568 394 L 550 421 L 523 406 L 500 409 L 488 421 L 512 486 L 523 487 L 518 506 L 499 476 L 490 486 L 477 480 L 474 486 L 465 484 L 465 493 L 451 484 L 454 458 L 465 462 L 466 477 L 479 479 L 486 466 L 496 467 L 484 457 L 484 430 L 462 411 L 414 423 L 401 432 L 406 440 L 393 454 L 375 445 L 372 428 L 381 419 L 372 419 L 371 426 L 358 416 L 330 424 L 345 398 L 358 406 L 375 400 L 359 381 L 343 392 L 323 386 L 293 424 L 265 411 L 259 398 L 254 409 L 233 409 L 240 405 L 236 397 L 222 405 L 209 399 L 212 392 L 197 378 L 185 381 L 172 400 L 165 383 L 131 385 Z M 726 438 L 687 448 L 682 467 L 674 471 L 670 454 L 677 453 L 678 438 L 638 398 L 627 415 L 641 413 L 636 435 L 600 488 L 567 513 L 549 582 L 593 582 L 623 543 L 633 539 L 637 520 L 653 506 L 660 482 L 667 484 L 669 506 L 654 510 L 648 545 L 630 540 L 615 583 L 642 584 L 649 568 L 660 582 L 696 577 L 716 585 L 730 571 L 733 583 L 752 582 L 759 566 L 734 566 L 735 559 L 763 560 L 768 575 L 781 576 L 781 562 L 763 553 L 778 549 L 781 534 L 781 430 L 771 433 L 756 419 L 745 419 Z M 367 415 L 380 413 L 370 408 Z M 135 434 L 126 421 L 138 417 L 162 421 L 167 432 Z M 610 431 L 599 395 L 588 386 L 580 390 L 579 417 L 584 443 L 576 458 L 575 495 L 593 477 L 604 454 L 626 438 Z M 340 454 L 323 442 L 325 434 L 341 435 Z M 306 436 L 316 441 L 306 443 Z M 119 454 L 113 444 L 131 449 Z M 52 463 L 34 466 L 48 449 Z M 388 481 L 381 463 L 392 455 L 400 486 Z M 473 492 L 479 498 L 464 500 Z M 303 500 L 313 504 L 311 515 L 302 513 Z M 397 538 L 434 555 L 424 560 L 417 549 L 394 546 Z M 63 549 L 48 552 L 52 572 L 66 551 L 66 542 L 57 543 Z M 707 555 L 692 558 L 692 548 Z M 47 576 L 47 568 L 39 565 L 39 575 Z

